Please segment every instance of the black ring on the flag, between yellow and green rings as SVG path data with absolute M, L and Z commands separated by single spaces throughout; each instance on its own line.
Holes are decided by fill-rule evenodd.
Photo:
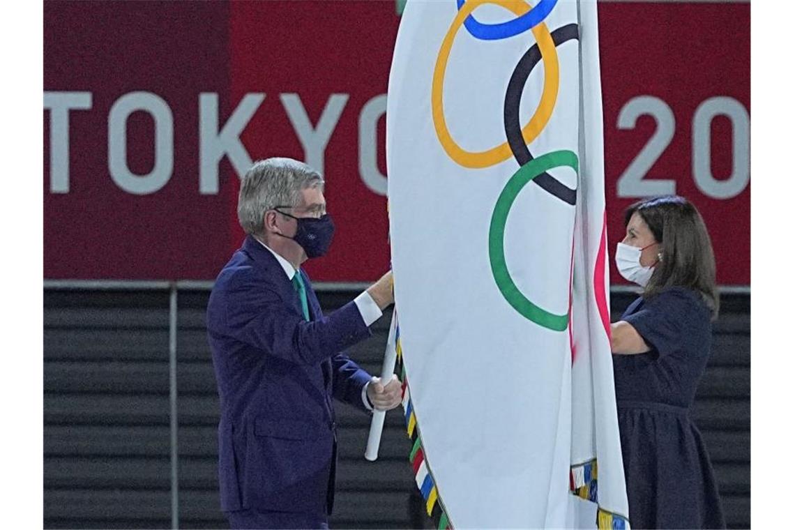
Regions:
M 555 46 L 579 38 L 580 32 L 576 24 L 564 25 L 552 32 L 552 40 Z M 525 89 L 527 78 L 540 60 L 541 52 L 538 49 L 538 44 L 533 44 L 522 56 L 522 59 L 519 60 L 516 68 L 514 68 L 514 73 L 510 76 L 505 95 L 505 109 L 503 112 L 505 135 L 508 139 L 510 150 L 514 153 L 514 158 L 516 158 L 520 166 L 533 160 L 533 155 L 525 144 L 525 138 L 522 137 L 522 124 L 519 122 L 519 103 L 522 101 L 522 91 Z M 548 172 L 541 173 L 541 175 L 533 179 L 533 182 L 541 186 L 545 191 L 555 195 L 564 203 L 572 204 L 573 206 L 577 202 L 576 189 L 568 188 L 568 186 L 561 183 L 560 180 L 557 180 Z

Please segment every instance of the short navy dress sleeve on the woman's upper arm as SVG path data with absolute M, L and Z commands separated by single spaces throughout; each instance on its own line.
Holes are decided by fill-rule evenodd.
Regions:
M 682 350 L 688 323 L 700 318 L 693 295 L 681 289 L 669 289 L 646 300 L 643 307 L 623 320 L 638 331 L 646 344 L 661 357 Z

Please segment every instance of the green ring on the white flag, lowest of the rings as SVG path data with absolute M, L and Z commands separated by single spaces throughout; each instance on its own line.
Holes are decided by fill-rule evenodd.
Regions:
M 494 281 L 502 296 L 512 308 L 518 313 L 539 326 L 546 327 L 553 331 L 565 331 L 568 327 L 568 313 L 556 315 L 549 311 L 539 308 L 533 304 L 527 296 L 523 295 L 519 288 L 514 284 L 514 280 L 508 272 L 508 265 L 505 261 L 505 226 L 508 220 L 510 208 L 513 207 L 519 191 L 541 173 L 551 168 L 568 167 L 579 172 L 580 164 L 577 155 L 572 151 L 560 150 L 546 153 L 541 157 L 534 158 L 523 165 L 510 177 L 505 188 L 502 188 L 497 203 L 494 205 L 494 213 L 491 214 L 491 225 L 489 226 L 489 261 L 491 261 L 491 273 Z

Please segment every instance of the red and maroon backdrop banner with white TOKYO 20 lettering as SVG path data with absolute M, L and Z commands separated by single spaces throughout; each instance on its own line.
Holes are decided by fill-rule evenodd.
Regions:
M 213 279 L 242 240 L 238 174 L 273 156 L 327 180 L 313 279 L 380 276 L 395 8 L 45 2 L 45 277 Z M 676 192 L 719 283 L 749 284 L 750 5 L 600 2 L 599 25 L 611 256 L 627 205 Z

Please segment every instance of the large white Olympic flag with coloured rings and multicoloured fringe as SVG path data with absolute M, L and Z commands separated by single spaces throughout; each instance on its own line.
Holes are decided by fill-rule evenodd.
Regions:
M 598 50 L 595 2 L 405 6 L 386 119 L 390 340 L 440 528 L 629 527 Z

